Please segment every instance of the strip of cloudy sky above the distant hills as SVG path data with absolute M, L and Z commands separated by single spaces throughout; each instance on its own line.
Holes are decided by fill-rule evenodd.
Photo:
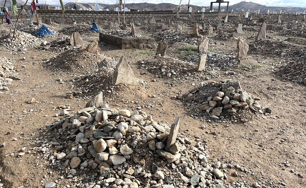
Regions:
M 39 3 L 45 3 L 45 0 L 39 0 Z M 119 0 L 118 0 L 119 1 Z M 124 2 L 124 0 L 122 0 Z M 210 6 L 210 1 L 213 0 L 190 0 L 190 4 L 192 5 L 198 5 L 198 6 Z M 214 0 L 215 1 L 215 0 Z M 226 1 L 226 0 L 224 0 Z M 63 0 L 63 3 L 66 4 L 68 2 L 75 2 L 75 0 Z M 115 4 L 116 0 L 77 0 L 78 3 L 105 3 L 105 4 Z M 180 0 L 125 0 L 125 3 L 172 3 L 172 4 L 179 4 Z M 236 3 L 240 3 L 241 0 L 229 0 L 229 5 L 233 5 Z M 246 1 L 250 2 L 250 1 Z M 258 3 L 261 5 L 266 6 L 277 6 L 277 7 L 306 7 L 306 1 L 305 0 L 255 0 L 252 1 L 253 3 Z M 60 5 L 59 0 L 46 0 L 47 4 L 54 4 L 54 5 Z M 188 0 L 182 0 L 181 4 L 188 4 Z

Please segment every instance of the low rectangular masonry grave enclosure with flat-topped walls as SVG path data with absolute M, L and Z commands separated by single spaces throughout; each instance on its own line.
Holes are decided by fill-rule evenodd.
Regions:
M 120 37 L 117 35 L 100 33 L 100 42 L 105 42 L 120 49 L 152 49 L 155 40 L 151 37 Z

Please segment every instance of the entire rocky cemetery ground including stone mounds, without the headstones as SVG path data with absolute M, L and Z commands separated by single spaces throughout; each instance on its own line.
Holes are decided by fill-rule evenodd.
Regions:
M 156 60 L 156 49 L 103 43 L 98 54 L 88 53 L 85 47 L 98 34 L 87 32 L 86 24 L 53 23 L 53 35 L 17 32 L 15 40 L 2 29 L 0 187 L 306 187 L 305 24 L 286 36 L 277 16 L 265 18 L 276 30 L 255 42 L 259 18 L 229 17 L 223 35 L 207 34 L 208 25 L 222 18 L 196 21 L 209 39 L 202 52 L 196 50 L 202 38 L 193 35 L 194 22 L 187 18 L 174 19 L 163 31 L 165 21 L 135 24 L 141 36 L 168 43 L 166 56 Z M 302 18 L 286 19 L 289 29 Z M 244 33 L 232 37 L 236 23 L 245 25 Z M 78 29 L 85 47 L 71 46 L 65 36 Z M 238 38 L 249 44 L 247 58 L 236 57 Z M 40 46 L 44 40 L 47 45 Z M 203 54 L 206 68 L 198 71 Z M 122 55 L 136 86 L 112 85 Z M 258 65 L 241 64 L 245 59 Z M 103 60 L 108 68 L 97 64 Z M 237 81 L 249 101 L 246 92 L 226 93 L 227 84 Z M 221 99 L 198 100 L 216 88 Z M 82 110 L 99 91 L 103 105 Z M 224 110 L 237 105 L 234 100 L 241 106 L 236 113 Z M 214 105 L 219 108 L 207 111 Z M 177 117 L 177 142 L 165 149 Z

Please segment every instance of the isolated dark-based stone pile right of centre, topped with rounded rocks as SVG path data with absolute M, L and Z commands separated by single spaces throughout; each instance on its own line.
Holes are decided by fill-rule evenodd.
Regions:
M 257 100 L 260 100 L 258 97 L 243 91 L 239 81 L 234 82 L 227 79 L 219 83 L 201 82 L 200 84 L 194 84 L 193 87 L 188 93 L 176 96 L 177 99 L 186 102 L 186 106 L 191 113 L 206 113 L 210 118 L 221 123 L 231 122 L 229 116 L 239 114 L 242 111 L 245 112 L 248 109 L 265 115 L 271 113 L 270 108 L 260 106 L 257 102 Z M 235 123 L 238 121 L 238 119 L 234 120 Z M 240 118 L 240 121 L 247 122 L 245 118 Z

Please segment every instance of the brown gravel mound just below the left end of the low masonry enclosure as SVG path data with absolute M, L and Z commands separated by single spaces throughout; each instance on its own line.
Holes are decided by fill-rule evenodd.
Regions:
M 100 53 L 89 53 L 85 47 L 73 46 L 70 50 L 47 60 L 45 66 L 51 70 L 73 70 L 75 73 L 84 70 L 92 72 L 98 69 L 97 62 L 104 60 L 105 57 Z

